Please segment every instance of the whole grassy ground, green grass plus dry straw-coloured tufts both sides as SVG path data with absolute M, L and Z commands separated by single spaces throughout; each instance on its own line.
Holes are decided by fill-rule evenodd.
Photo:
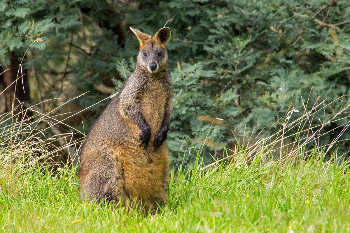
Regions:
M 197 148 L 190 169 L 174 167 L 168 201 L 152 214 L 132 205 L 80 202 L 78 154 L 57 166 L 51 159 L 56 152 L 49 146 L 56 139 L 38 136 L 45 133 L 41 126 L 57 124 L 55 117 L 37 112 L 21 119 L 23 112 L 10 112 L 1 117 L 1 123 L 11 124 L 0 134 L 0 231 L 349 232 L 349 162 L 331 150 L 339 134 L 333 144 L 307 149 L 330 133 L 322 134 L 322 127 L 338 120 L 309 127 L 313 114 L 323 108 L 320 101 L 288 122 L 298 112 L 290 109 L 279 132 L 255 142 L 240 141 L 234 151 L 225 150 L 224 159 L 209 165 L 203 164 Z M 335 117 L 342 114 L 347 117 L 346 109 Z M 345 122 L 341 132 L 348 125 Z M 288 136 L 293 142 L 283 145 L 294 127 L 298 133 Z M 84 138 L 70 141 L 64 134 L 61 139 L 67 142 L 65 148 L 72 148 Z

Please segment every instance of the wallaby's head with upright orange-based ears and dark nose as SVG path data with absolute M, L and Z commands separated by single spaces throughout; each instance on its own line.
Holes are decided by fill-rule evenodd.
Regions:
M 140 43 L 137 64 L 151 73 L 156 73 L 166 68 L 168 65 L 166 45 L 170 39 L 170 28 L 161 28 L 154 36 L 145 34 L 131 27 L 130 29 L 136 35 Z

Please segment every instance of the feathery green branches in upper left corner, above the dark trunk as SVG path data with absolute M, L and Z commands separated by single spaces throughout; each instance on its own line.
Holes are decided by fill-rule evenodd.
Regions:
M 57 41 L 61 39 L 62 43 L 62 39 L 72 32 L 72 27 L 80 25 L 76 14 L 72 14 L 76 12 L 72 8 L 76 2 L 59 0 L 52 4 L 36 0 L 1 1 L 0 65 L 9 65 L 12 51 L 23 56 L 37 37 L 44 41 L 33 44 L 39 50 L 45 49 L 50 36 L 55 36 Z

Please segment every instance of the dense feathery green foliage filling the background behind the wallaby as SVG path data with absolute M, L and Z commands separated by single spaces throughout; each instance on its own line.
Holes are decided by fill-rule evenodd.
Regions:
M 43 44 L 33 44 L 42 51 L 35 50 L 33 58 L 26 59 L 27 67 L 34 66 L 42 80 L 50 75 L 53 83 L 61 82 L 59 77 L 62 83 L 75 85 L 75 95 L 89 92 L 78 100 L 82 108 L 107 96 L 96 89 L 106 77 L 113 77 L 118 91 L 133 70 L 138 42 L 127 26 L 153 34 L 170 20 L 174 111 L 168 146 L 176 163 L 184 154 L 184 161 L 193 163 L 194 148 L 201 148 L 205 138 L 204 160 L 209 162 L 211 155 L 222 156 L 224 146 L 235 137 L 269 128 L 267 135 L 277 131 L 291 104 L 301 114 L 304 105 L 309 110 L 318 96 L 327 104 L 350 94 L 350 24 L 336 26 L 332 34 L 331 27 L 315 21 L 349 20 L 347 0 L 338 0 L 315 16 L 328 1 L 12 2 L 11 6 L 0 2 L 0 64 L 9 63 L 10 51 L 22 55 L 33 39 L 42 37 Z M 51 88 L 44 97 L 65 91 Z M 349 102 L 344 96 L 317 112 L 315 119 L 328 121 Z M 95 113 L 84 119 L 85 126 L 106 104 L 91 108 Z M 211 126 L 215 118 L 224 121 L 215 120 Z M 344 117 L 325 131 L 347 121 Z M 324 137 L 323 145 L 335 137 Z M 348 131 L 339 138 L 339 154 L 348 151 L 349 138 Z

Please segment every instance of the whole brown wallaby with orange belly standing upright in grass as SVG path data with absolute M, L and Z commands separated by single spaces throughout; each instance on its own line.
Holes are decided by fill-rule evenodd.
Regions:
M 154 210 L 166 200 L 170 180 L 165 143 L 172 112 L 170 29 L 154 36 L 130 29 L 140 43 L 136 68 L 85 140 L 80 190 L 89 203 L 122 198 L 123 204 L 136 200 Z

